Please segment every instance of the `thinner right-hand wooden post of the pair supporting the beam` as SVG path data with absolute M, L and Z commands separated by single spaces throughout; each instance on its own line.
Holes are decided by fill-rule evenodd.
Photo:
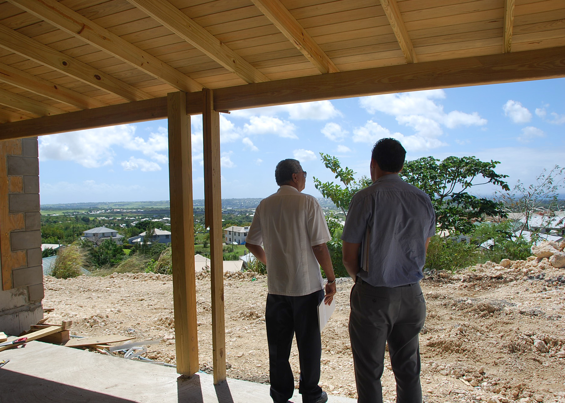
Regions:
M 210 227 L 212 289 L 212 363 L 214 384 L 225 380 L 224 254 L 221 227 L 220 114 L 214 110 L 214 94 L 202 90 L 204 136 L 204 197 L 206 226 Z

